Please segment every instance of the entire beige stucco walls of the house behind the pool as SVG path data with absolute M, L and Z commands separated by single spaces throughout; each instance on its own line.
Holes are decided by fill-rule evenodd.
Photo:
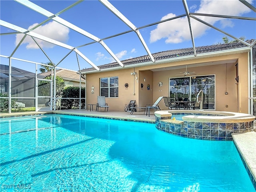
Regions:
M 230 63 L 228 60 L 237 59 L 239 82 L 236 78 L 236 62 Z M 224 64 L 214 64 L 217 61 L 223 61 Z M 212 65 L 204 66 L 205 62 L 210 62 Z M 202 64 L 202 66 L 190 67 L 190 64 Z M 175 70 L 166 70 L 165 67 L 184 66 L 184 68 Z M 87 104 L 96 104 L 97 97 L 100 93 L 99 85 L 100 78 L 103 77 L 119 77 L 119 97 L 106 98 L 106 102 L 110 106 L 110 110 L 122 111 L 124 105 L 130 100 L 136 100 L 137 106 L 145 106 L 145 104 L 154 103 L 159 96 L 169 95 L 169 78 L 177 78 L 176 74 L 185 71 L 185 65 L 188 71 L 196 72 L 196 76 L 200 75 L 216 75 L 216 108 L 220 111 L 243 112 L 248 113 L 248 53 L 230 54 L 225 56 L 209 56 L 208 58 L 190 59 L 184 61 L 169 62 L 156 64 L 151 66 L 141 66 L 136 68 L 124 68 L 121 70 L 97 72 L 94 74 L 86 74 L 86 100 Z M 158 68 L 163 68 L 161 71 L 156 71 Z M 138 73 L 138 83 L 134 76 L 130 73 Z M 154 72 L 153 72 L 154 71 Z M 182 76 L 182 75 L 181 75 Z M 136 77 L 136 75 L 135 75 Z M 144 77 L 146 82 L 144 82 Z M 158 82 L 163 82 L 163 86 L 159 87 Z M 124 84 L 128 83 L 129 87 L 125 88 Z M 141 89 L 141 83 L 144 84 Z M 135 95 L 134 87 L 135 84 Z M 147 84 L 150 85 L 150 90 L 147 90 Z M 94 94 L 90 90 L 94 86 Z M 225 92 L 228 92 L 226 95 Z M 228 107 L 226 107 L 226 105 Z M 159 104 L 161 109 L 167 109 L 162 100 Z

